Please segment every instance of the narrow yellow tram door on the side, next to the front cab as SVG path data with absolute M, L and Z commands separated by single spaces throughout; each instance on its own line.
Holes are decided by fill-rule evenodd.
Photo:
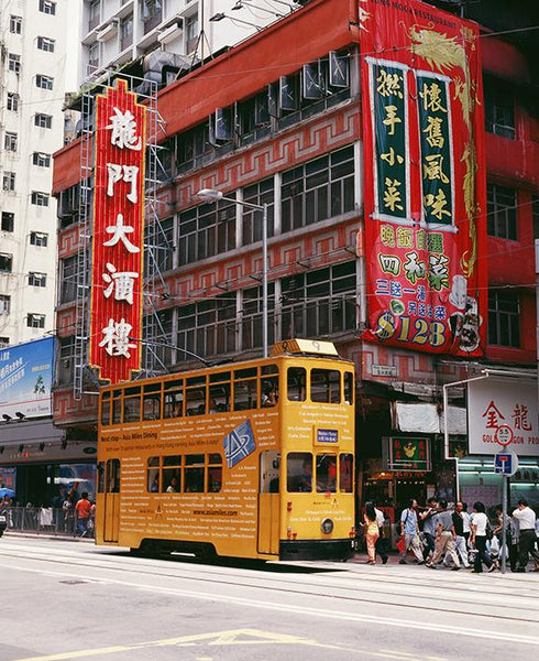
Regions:
M 275 449 L 260 455 L 258 553 L 279 552 L 279 464 Z

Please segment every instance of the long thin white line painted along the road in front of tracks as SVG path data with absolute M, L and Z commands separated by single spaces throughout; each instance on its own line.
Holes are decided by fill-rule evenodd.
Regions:
M 82 574 L 73 574 L 67 572 L 53 572 L 51 570 L 33 570 L 29 567 L 22 567 L 16 565 L 10 565 L 13 570 L 20 570 L 22 572 L 36 573 L 41 575 L 48 576 L 70 576 L 76 578 L 81 578 L 85 581 L 89 581 L 88 576 Z M 122 585 L 124 587 L 140 589 L 142 592 L 151 592 L 158 594 L 170 594 L 170 595 L 179 595 L 193 599 L 201 599 L 207 602 L 220 602 L 226 604 L 237 604 L 241 606 L 249 606 L 252 608 L 263 608 L 270 610 L 277 610 L 282 613 L 295 613 L 299 615 L 310 614 L 312 616 L 321 617 L 326 620 L 328 619 L 337 619 L 342 621 L 355 621 L 359 624 L 372 622 L 375 625 L 382 625 L 384 627 L 393 626 L 400 627 L 405 629 L 417 629 L 420 631 L 436 631 L 437 633 L 450 633 L 457 636 L 466 636 L 469 638 L 481 638 L 481 639 L 491 639 L 491 640 L 502 640 L 504 642 L 515 642 L 521 644 L 536 644 L 539 646 L 539 637 L 537 636 L 525 636 L 521 633 L 505 633 L 499 630 L 488 630 L 488 629 L 466 629 L 460 626 L 451 626 L 451 625 L 436 625 L 432 622 L 419 622 L 415 620 L 407 620 L 404 618 L 387 618 L 387 617 L 378 617 L 375 615 L 366 615 L 366 614 L 355 614 L 355 613 L 345 613 L 339 610 L 331 610 L 329 608 L 312 608 L 308 606 L 294 606 L 287 604 L 278 604 L 274 602 L 262 602 L 260 599 L 249 599 L 246 597 L 233 597 L 226 595 L 215 595 L 204 592 L 194 592 L 187 589 L 178 589 L 174 587 L 160 587 L 154 585 L 144 585 L 132 583 L 129 581 L 119 581 L 114 578 L 96 578 L 92 583 L 108 584 L 108 585 Z M 477 614 L 480 617 L 481 614 Z M 40 659 L 40 661 L 42 661 Z

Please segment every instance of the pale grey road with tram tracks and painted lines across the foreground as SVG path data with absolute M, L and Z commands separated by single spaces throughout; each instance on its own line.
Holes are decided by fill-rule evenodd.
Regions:
M 539 574 L 205 565 L 0 540 L 0 661 L 529 660 Z

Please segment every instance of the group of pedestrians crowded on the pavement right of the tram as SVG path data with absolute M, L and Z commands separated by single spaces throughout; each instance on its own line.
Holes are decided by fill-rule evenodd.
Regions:
M 387 563 L 387 544 L 384 540 L 384 513 L 374 502 L 367 502 L 363 529 L 369 563 L 375 564 L 376 554 Z M 472 568 L 476 574 L 499 568 L 502 559 L 509 560 L 514 572 L 526 572 L 529 556 L 539 571 L 539 528 L 535 511 L 525 499 L 510 516 L 496 507 L 496 524 L 491 525 L 483 502 L 475 502 L 468 512 L 465 502 L 457 502 L 453 509 L 443 499 L 429 498 L 425 508 L 411 499 L 397 523 L 400 564 L 406 564 L 411 553 L 419 565 L 437 570 L 440 565 L 452 571 Z M 505 539 L 504 539 L 505 530 Z

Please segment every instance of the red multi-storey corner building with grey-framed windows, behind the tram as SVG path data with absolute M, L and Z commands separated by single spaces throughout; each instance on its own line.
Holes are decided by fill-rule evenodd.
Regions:
M 492 470 L 485 468 L 488 460 L 470 453 L 471 438 L 458 414 L 451 446 L 444 448 L 439 413 L 443 384 L 468 381 L 485 368 L 505 370 L 507 379 L 525 379 L 537 367 L 532 228 L 537 232 L 539 155 L 537 107 L 529 96 L 535 79 L 531 50 L 521 39 L 509 41 L 482 29 L 488 198 L 488 237 L 479 254 L 488 262 L 483 357 L 437 356 L 365 342 L 364 261 L 370 246 L 363 246 L 361 231 L 366 164 L 360 8 L 358 2 L 314 0 L 160 93 L 168 181 L 160 192 L 158 315 L 166 344 L 178 349 L 155 348 L 172 370 L 188 365 L 183 347 L 230 360 L 261 350 L 256 215 L 230 202 L 201 204 L 196 193 L 218 188 L 237 202 L 266 203 L 270 340 L 330 338 L 356 364 L 360 497 L 392 508 L 407 497 L 425 499 L 435 491 L 454 498 L 457 483 L 466 498 L 493 505 L 499 490 L 494 476 L 485 473 Z M 470 6 L 483 24 L 525 35 L 525 24 L 518 24 L 521 14 L 502 10 L 502 3 L 490 3 L 488 13 Z M 342 64 L 344 75 L 330 75 L 331 61 Z M 56 154 L 56 194 L 66 195 L 77 185 L 78 162 L 77 142 Z M 76 401 L 72 386 L 70 264 L 78 246 L 77 224 L 61 228 L 66 294 L 57 310 L 62 358 L 54 405 L 58 424 L 86 426 L 91 433 L 96 400 L 88 395 Z M 516 389 L 516 383 L 506 381 L 506 389 Z M 465 392 L 451 389 L 451 399 L 465 413 Z M 417 404 L 422 408 L 411 415 L 409 407 Z M 526 424 L 522 416 L 519 424 Z M 428 440 L 432 462 L 427 470 L 391 469 L 385 438 L 395 435 Z M 469 455 L 460 462 L 458 476 L 450 453 Z M 522 454 L 512 492 L 537 501 L 537 453 L 530 448 Z

